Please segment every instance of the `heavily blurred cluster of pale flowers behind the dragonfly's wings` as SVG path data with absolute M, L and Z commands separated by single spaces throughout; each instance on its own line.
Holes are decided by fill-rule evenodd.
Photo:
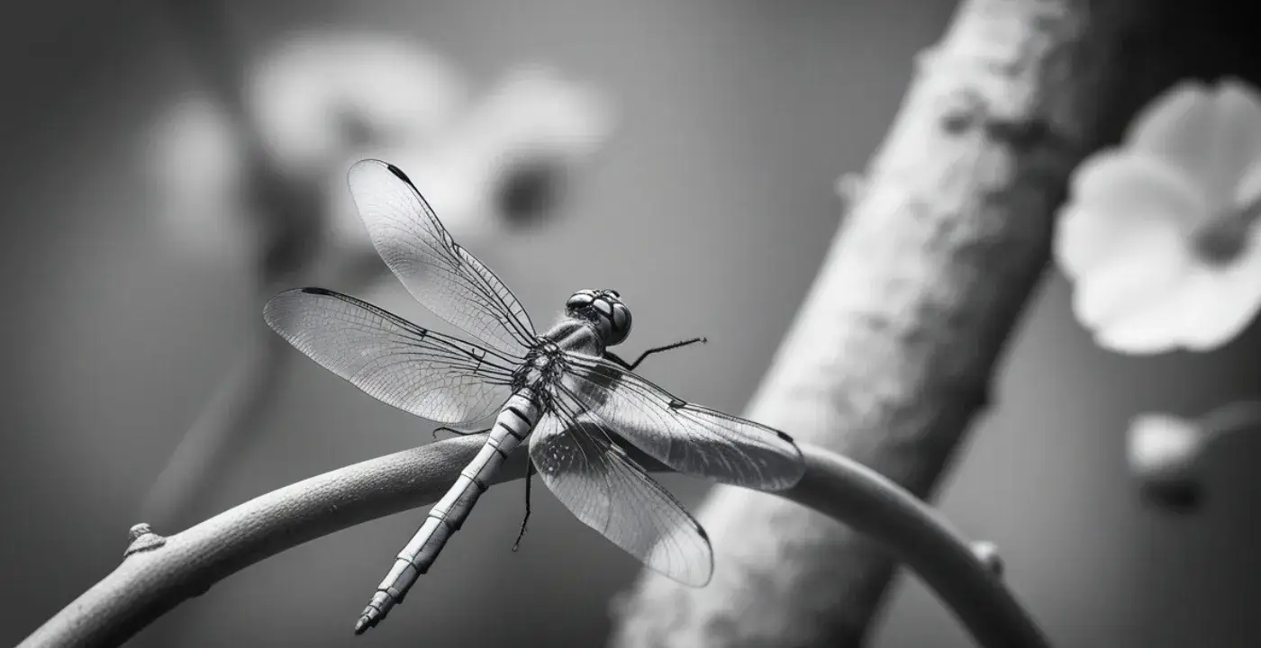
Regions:
M 173 241 L 216 258 L 224 248 L 276 256 L 257 248 L 293 247 L 306 228 L 318 228 L 322 236 L 308 238 L 338 257 L 324 262 L 353 272 L 385 269 L 346 190 L 356 160 L 380 158 L 404 169 L 451 234 L 468 241 L 550 213 L 565 178 L 612 125 L 595 91 L 549 68 L 514 69 L 469 103 L 436 54 L 362 33 L 298 34 L 250 72 L 245 95 L 247 125 L 233 124 L 211 97 L 190 97 L 159 122 L 150 160 Z M 266 202 L 251 200 L 260 179 L 246 170 L 242 127 L 257 129 L 277 166 L 280 178 L 262 182 L 280 180 L 291 198 L 296 193 L 289 202 L 299 213 L 269 213 Z M 314 207 L 306 195 L 317 197 Z M 284 218 L 299 221 L 272 222 Z

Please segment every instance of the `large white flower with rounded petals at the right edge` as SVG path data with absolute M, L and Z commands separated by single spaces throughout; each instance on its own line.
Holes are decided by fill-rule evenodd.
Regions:
M 1224 344 L 1261 308 L 1261 97 L 1184 82 L 1084 161 L 1058 223 L 1073 311 L 1122 353 Z

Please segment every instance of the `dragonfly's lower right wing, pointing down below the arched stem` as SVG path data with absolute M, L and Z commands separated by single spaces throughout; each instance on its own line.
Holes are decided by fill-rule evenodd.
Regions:
M 530 440 L 530 459 L 547 488 L 578 519 L 652 570 L 706 585 L 714 552 L 700 523 L 600 426 L 559 401 Z

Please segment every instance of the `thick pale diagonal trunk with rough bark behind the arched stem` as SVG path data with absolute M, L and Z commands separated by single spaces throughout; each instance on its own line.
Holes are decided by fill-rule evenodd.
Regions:
M 960 6 L 921 55 L 752 419 L 932 494 L 1047 265 L 1071 169 L 1151 91 L 1134 73 L 1148 59 L 1126 48 L 1159 5 Z M 714 537 L 712 582 L 646 572 L 617 645 L 863 642 L 893 575 L 879 547 L 734 488 L 715 489 L 699 518 Z

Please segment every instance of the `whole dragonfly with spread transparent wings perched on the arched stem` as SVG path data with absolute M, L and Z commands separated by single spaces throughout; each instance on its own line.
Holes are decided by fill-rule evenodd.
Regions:
M 714 570 L 709 536 L 625 444 L 719 483 L 773 492 L 802 478 L 805 463 L 788 435 L 680 400 L 634 373 L 649 354 L 700 339 L 622 359 L 608 348 L 625 342 L 632 318 L 615 290 L 574 292 L 559 321 L 537 334 L 512 291 L 451 238 L 402 170 L 361 160 L 347 182 L 373 246 L 407 291 L 477 342 L 319 287 L 275 295 L 264 319 L 317 363 L 400 410 L 464 434 L 494 417 L 477 456 L 398 552 L 356 634 L 402 603 L 522 444 L 527 519 L 537 474 L 586 526 L 649 569 L 697 587 Z

